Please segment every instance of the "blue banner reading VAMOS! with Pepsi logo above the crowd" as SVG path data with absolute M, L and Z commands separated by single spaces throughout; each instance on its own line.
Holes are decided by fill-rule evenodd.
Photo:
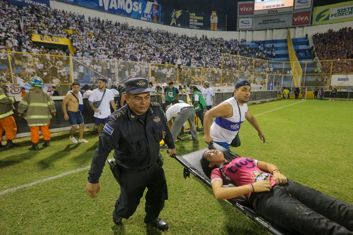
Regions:
M 160 24 L 162 22 L 162 5 L 157 1 L 145 0 L 58 0 L 112 14 L 124 15 L 138 20 Z

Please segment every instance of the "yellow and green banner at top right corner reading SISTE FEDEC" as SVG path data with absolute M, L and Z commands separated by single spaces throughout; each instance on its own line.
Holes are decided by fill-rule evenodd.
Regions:
M 312 24 L 353 21 L 353 1 L 314 7 Z

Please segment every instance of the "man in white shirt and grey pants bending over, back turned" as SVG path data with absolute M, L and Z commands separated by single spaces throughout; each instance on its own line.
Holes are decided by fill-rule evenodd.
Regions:
M 177 135 L 180 128 L 184 125 L 187 120 L 191 129 L 191 138 L 189 141 L 198 141 L 198 135 L 195 126 L 195 109 L 192 105 L 187 103 L 179 103 L 179 100 L 172 100 L 172 105 L 168 105 L 166 108 L 166 118 L 168 121 L 169 129 L 171 129 L 174 142 L 176 141 Z M 175 120 L 172 123 L 172 119 Z

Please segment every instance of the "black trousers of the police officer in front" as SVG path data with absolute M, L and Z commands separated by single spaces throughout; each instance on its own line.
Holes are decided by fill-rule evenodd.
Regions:
M 151 218 L 158 217 L 168 199 L 167 181 L 161 165 L 155 163 L 150 168 L 137 172 L 120 171 L 120 195 L 115 202 L 116 215 L 129 218 L 140 204 L 145 189 L 145 211 Z

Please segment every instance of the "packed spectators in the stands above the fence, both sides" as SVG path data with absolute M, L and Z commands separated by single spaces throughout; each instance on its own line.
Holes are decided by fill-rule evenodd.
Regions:
M 69 49 L 63 51 L 33 44 L 31 36 L 38 34 L 70 39 L 76 49 L 73 56 L 78 58 L 114 58 L 167 65 L 176 65 L 179 61 L 181 65 L 210 69 L 221 69 L 222 53 L 268 59 L 272 50 L 275 50 L 274 47 L 270 50 L 261 45 L 251 49 L 244 39 L 224 40 L 203 35 L 189 37 L 165 30 L 113 23 L 96 17 L 86 19 L 77 13 L 39 6 L 18 7 L 1 1 L 0 9 L 0 50 L 70 55 Z M 315 34 L 313 41 L 320 60 L 352 58 L 352 48 L 345 46 L 352 44 L 351 27 Z M 328 43 L 330 47 L 326 46 Z M 237 66 L 234 63 L 236 61 L 233 60 L 225 65 Z M 245 67 L 244 70 L 247 69 Z M 325 71 L 325 64 L 323 67 Z M 342 67 L 337 70 L 348 71 L 352 64 L 343 64 Z

